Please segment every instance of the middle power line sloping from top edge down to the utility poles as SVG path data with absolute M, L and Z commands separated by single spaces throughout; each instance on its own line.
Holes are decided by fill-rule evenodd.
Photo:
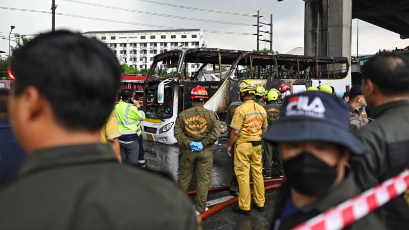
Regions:
M 134 12 L 134 13 L 149 14 L 149 15 L 161 16 L 161 17 L 171 17 L 171 18 L 193 20 L 193 21 L 204 21 L 204 22 L 212 22 L 212 23 L 217 23 L 217 24 L 228 24 L 228 25 L 249 26 L 249 27 L 252 26 L 252 24 L 243 24 L 243 23 L 230 22 L 230 21 L 217 21 L 217 20 L 209 20 L 209 19 L 201 19 L 201 18 L 193 18 L 193 17 L 176 16 L 176 15 L 170 15 L 170 14 L 152 13 L 152 12 L 147 12 L 147 11 L 131 10 L 131 9 L 106 6 L 106 5 L 100 5 L 100 4 L 94 4 L 94 3 L 85 3 L 85 2 L 74 1 L 74 0 L 63 0 L 63 1 L 84 4 L 84 5 L 89 5 L 89 6 L 103 7 L 103 8 L 114 9 L 114 10 L 122 10 L 122 11 Z

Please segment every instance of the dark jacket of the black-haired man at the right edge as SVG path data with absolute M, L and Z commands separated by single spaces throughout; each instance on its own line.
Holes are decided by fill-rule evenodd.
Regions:
M 363 189 L 409 168 L 409 100 L 383 104 L 373 112 L 376 120 L 355 133 L 369 152 L 351 158 L 351 165 L 359 172 L 357 182 Z M 385 204 L 379 214 L 389 229 L 407 229 L 409 190 Z

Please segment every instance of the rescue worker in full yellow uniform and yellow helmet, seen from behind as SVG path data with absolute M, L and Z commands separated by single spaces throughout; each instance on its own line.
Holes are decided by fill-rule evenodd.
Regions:
M 233 121 L 230 124 L 232 132 L 228 142 L 227 152 L 230 154 L 235 143 L 234 171 L 239 183 L 239 205 L 233 211 L 250 215 L 250 185 L 249 171 L 254 181 L 254 202 L 259 212 L 264 211 L 264 181 L 261 162 L 261 134 L 267 130 L 267 114 L 263 106 L 254 101 L 256 87 L 249 80 L 239 85 L 243 104 L 236 108 Z

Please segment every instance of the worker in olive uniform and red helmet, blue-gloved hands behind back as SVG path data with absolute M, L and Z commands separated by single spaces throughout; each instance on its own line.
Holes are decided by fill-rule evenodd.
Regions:
M 220 136 L 217 114 L 203 108 L 208 93 L 196 86 L 190 93 L 192 107 L 184 110 L 176 119 L 174 136 L 182 154 L 179 168 L 179 186 L 187 193 L 193 173 L 196 172 L 196 215 L 208 210 L 208 192 L 212 182 L 213 144 Z

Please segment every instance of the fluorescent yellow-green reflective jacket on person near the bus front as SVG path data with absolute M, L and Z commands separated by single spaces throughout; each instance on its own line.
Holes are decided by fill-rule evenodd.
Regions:
M 121 135 L 142 134 L 140 121 L 145 120 L 144 111 L 132 104 L 120 101 L 115 106 L 115 113 L 117 113 L 118 126 Z

